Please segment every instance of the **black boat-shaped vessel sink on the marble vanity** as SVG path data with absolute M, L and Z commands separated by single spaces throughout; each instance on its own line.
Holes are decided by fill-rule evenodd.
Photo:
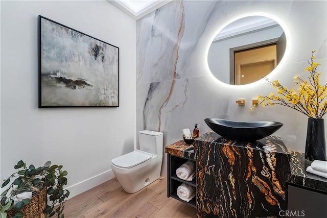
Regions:
M 267 137 L 283 126 L 273 121 L 235 122 L 226 119 L 206 118 L 204 122 L 217 134 L 232 140 L 255 141 Z

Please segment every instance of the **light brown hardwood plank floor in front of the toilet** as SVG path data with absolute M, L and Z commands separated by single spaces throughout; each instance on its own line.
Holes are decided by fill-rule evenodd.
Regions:
M 167 179 L 154 181 L 146 188 L 126 193 L 114 178 L 69 199 L 65 217 L 196 217 L 196 209 L 167 198 Z

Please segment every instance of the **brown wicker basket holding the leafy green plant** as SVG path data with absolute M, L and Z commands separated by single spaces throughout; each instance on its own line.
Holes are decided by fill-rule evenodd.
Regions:
M 21 211 L 25 218 L 45 218 L 46 214 L 43 210 L 46 207 L 47 195 L 46 187 L 43 187 L 36 195 L 31 198 L 31 203 L 24 206 Z M 16 210 L 11 209 L 7 211 L 7 216 L 12 217 L 17 213 Z

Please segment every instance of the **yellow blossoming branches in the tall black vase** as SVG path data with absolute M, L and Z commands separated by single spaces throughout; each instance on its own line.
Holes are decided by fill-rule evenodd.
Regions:
M 269 81 L 272 87 L 276 88 L 276 93 L 270 93 L 269 96 L 259 95 L 259 105 L 282 105 L 293 108 L 311 118 L 322 118 L 327 113 L 327 83 L 320 85 L 321 72 L 317 72 L 317 66 L 320 63 L 314 62 L 315 56 L 312 51 L 311 59 L 308 61 L 309 66 L 305 69 L 309 72 L 309 81 L 302 80 L 299 76 L 294 78 L 294 83 L 299 85 L 298 93 L 293 89 L 283 86 L 278 80 Z M 258 105 L 253 105 L 251 110 Z

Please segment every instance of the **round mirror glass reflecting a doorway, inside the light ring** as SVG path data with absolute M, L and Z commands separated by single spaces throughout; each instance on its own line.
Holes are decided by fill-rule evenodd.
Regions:
M 219 31 L 209 47 L 208 66 L 221 82 L 249 84 L 270 74 L 285 49 L 284 30 L 275 20 L 247 16 Z

